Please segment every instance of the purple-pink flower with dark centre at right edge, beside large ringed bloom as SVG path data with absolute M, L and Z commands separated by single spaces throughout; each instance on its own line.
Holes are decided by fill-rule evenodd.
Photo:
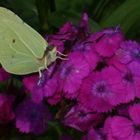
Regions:
M 140 97 L 140 69 L 137 62 L 132 62 L 130 64 L 122 64 L 116 59 L 112 59 L 109 62 L 110 65 L 113 65 L 120 71 L 121 84 L 119 90 L 122 93 L 122 103 L 128 103 L 134 98 Z M 124 96 L 124 97 L 123 97 Z

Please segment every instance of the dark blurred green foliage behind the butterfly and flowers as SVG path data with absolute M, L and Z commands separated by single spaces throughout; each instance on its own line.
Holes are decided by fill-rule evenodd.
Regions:
M 67 21 L 78 24 L 82 13 L 87 12 L 93 31 L 120 25 L 127 38 L 140 41 L 140 0 L 0 0 L 0 6 L 11 9 L 42 35 L 55 33 Z M 63 131 L 77 139 L 80 136 L 58 122 L 49 123 L 48 132 L 40 137 L 11 131 L 12 140 L 57 140 Z

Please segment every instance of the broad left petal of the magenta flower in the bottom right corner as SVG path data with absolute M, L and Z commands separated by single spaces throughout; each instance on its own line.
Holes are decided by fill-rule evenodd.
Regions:
M 108 139 L 112 140 L 133 140 L 133 122 L 125 117 L 120 116 L 108 118 L 105 121 L 104 133 Z

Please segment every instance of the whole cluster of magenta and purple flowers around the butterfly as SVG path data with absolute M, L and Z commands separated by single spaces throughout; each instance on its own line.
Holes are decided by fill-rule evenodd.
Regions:
M 15 119 L 20 132 L 42 134 L 53 118 L 47 106 L 58 104 L 57 118 L 87 132 L 82 140 L 139 140 L 140 45 L 127 40 L 119 27 L 91 32 L 87 14 L 78 26 L 68 22 L 46 40 L 65 56 L 41 78 L 23 77 L 23 101 L 15 111 L 12 102 L 17 101 L 9 101 L 9 92 L 0 94 L 0 121 Z M 9 78 L 1 69 L 0 81 Z

